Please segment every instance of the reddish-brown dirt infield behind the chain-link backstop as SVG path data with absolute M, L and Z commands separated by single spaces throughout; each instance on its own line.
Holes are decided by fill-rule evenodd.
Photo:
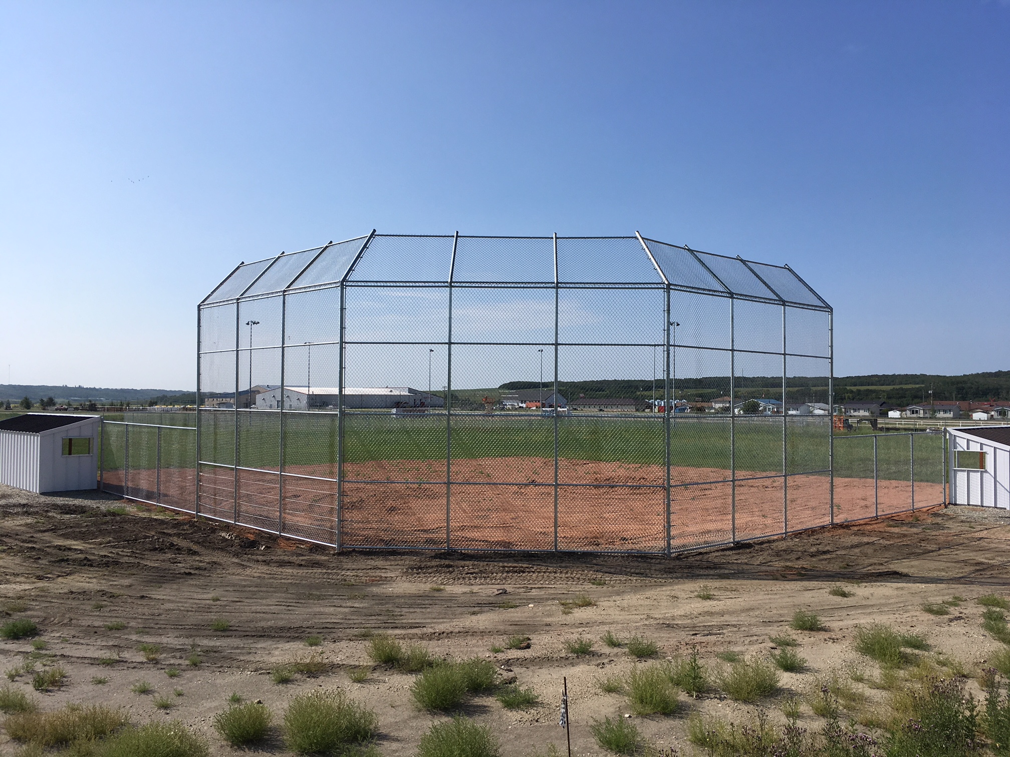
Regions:
M 283 521 L 279 476 L 274 471 L 239 470 L 236 480 L 231 469 L 203 468 L 201 512 L 335 543 L 336 481 L 330 480 L 335 465 L 288 466 L 285 472 L 290 475 L 284 477 Z M 448 471 L 444 460 L 347 463 L 341 544 L 665 551 L 665 474 L 662 465 L 561 459 L 556 503 L 551 457 L 461 458 L 451 461 Z M 121 488 L 119 475 L 117 480 L 115 472 L 106 473 L 106 484 Z M 671 468 L 673 549 L 773 536 L 831 522 L 827 475 L 783 477 L 737 470 L 735 486 L 727 480 L 730 475 L 723 468 Z M 155 477 L 154 470 L 131 469 L 128 486 L 120 491 L 127 497 L 155 500 Z M 192 470 L 163 470 L 161 492 L 166 504 L 190 510 Z M 872 478 L 836 477 L 835 521 L 910 510 L 912 495 L 907 480 L 875 484 Z M 942 484 L 916 483 L 915 502 L 920 507 L 942 502 Z

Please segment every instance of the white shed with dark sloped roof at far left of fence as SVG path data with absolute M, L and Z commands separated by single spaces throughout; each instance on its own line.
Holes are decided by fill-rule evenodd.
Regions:
M 66 413 L 0 421 L 0 483 L 37 493 L 97 488 L 101 422 Z

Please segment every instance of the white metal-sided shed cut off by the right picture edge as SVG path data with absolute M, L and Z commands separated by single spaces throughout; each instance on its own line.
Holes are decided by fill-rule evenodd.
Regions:
M 947 429 L 950 503 L 1010 510 L 1010 426 Z

